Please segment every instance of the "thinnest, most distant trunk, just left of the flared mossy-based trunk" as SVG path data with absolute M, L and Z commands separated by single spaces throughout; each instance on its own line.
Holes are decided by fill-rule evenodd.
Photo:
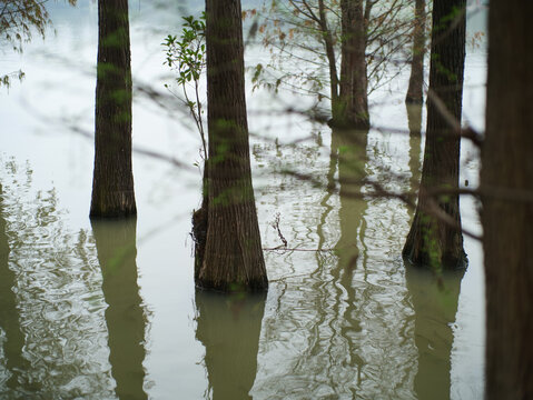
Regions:
M 407 103 L 422 103 L 424 99 L 425 22 L 425 0 L 416 0 L 413 28 L 413 59 L 411 61 L 409 87 L 405 97 Z

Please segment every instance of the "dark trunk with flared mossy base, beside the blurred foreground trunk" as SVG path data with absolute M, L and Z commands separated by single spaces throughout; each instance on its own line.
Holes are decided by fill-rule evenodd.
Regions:
M 418 204 L 403 250 L 404 257 L 432 269 L 463 268 L 458 194 L 430 197 L 431 190 L 458 188 L 463 99 L 465 0 L 433 2 L 432 56 L 427 129 Z M 444 211 L 453 223 L 435 216 Z M 451 222 L 448 221 L 448 222 Z

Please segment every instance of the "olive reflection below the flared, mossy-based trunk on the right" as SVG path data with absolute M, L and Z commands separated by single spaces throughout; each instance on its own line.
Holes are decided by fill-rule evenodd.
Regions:
M 434 272 L 405 266 L 405 278 L 415 311 L 418 372 L 415 392 L 420 400 L 450 399 L 452 323 L 457 312 L 461 280 L 465 270 Z

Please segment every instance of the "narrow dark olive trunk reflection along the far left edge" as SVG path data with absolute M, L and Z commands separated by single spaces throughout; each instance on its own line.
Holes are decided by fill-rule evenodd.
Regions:
M 6 367 L 11 374 L 6 386 L 16 392 L 24 388 L 23 376 L 27 374 L 30 363 L 22 354 L 26 339 L 20 326 L 17 297 L 13 291 L 17 287 L 16 276 L 9 268 L 10 248 L 6 228 L 3 189 L 0 184 L 0 329 L 6 334 L 3 357 L 6 358 Z M 30 389 L 37 390 L 38 388 Z M 2 393 L 0 392 L 0 394 Z

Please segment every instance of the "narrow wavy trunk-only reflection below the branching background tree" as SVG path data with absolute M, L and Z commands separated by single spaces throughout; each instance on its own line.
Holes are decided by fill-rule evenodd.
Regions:
M 334 284 L 327 289 L 324 289 L 323 296 L 327 302 L 327 298 L 334 296 L 333 311 L 335 322 L 330 321 L 330 326 L 335 326 L 335 333 L 325 344 L 320 340 L 315 341 L 314 348 L 310 349 L 310 353 L 319 353 L 320 346 L 327 346 L 327 354 L 330 359 L 336 358 L 338 349 L 338 340 L 345 343 L 347 353 L 344 354 L 346 363 L 354 369 L 356 373 L 356 380 L 349 383 L 352 392 L 355 390 L 355 386 L 361 383 L 361 371 L 364 364 L 363 359 L 358 354 L 355 336 L 361 332 L 361 321 L 357 312 L 356 289 L 353 284 L 354 271 L 357 267 L 357 260 L 359 259 L 359 248 L 363 244 L 365 222 L 363 216 L 367 209 L 366 200 L 361 198 L 362 182 L 366 177 L 366 146 L 367 146 L 367 131 L 354 131 L 354 130 L 338 130 L 332 131 L 332 147 L 329 153 L 329 169 L 327 172 L 327 192 L 320 202 L 325 212 L 320 218 L 320 223 L 317 227 L 317 234 L 319 237 L 319 248 L 325 242 L 324 224 L 326 222 L 327 214 L 333 210 L 328 201 L 336 189 L 335 174 L 338 172 L 339 182 L 339 227 L 340 237 L 335 244 L 335 253 L 337 256 L 336 262 L 324 257 L 324 254 L 317 253 L 317 263 L 320 269 L 326 266 L 334 264 L 328 273 L 333 279 Z M 366 257 L 366 254 L 363 254 Z M 319 280 L 318 280 L 319 281 Z M 316 289 L 320 291 L 320 286 Z M 332 292 L 329 292 L 332 290 Z M 318 320 L 318 324 L 327 324 L 324 318 Z M 317 326 L 315 331 L 319 331 Z M 330 369 L 335 368 L 334 364 L 328 364 L 327 376 L 332 377 L 335 372 Z M 336 380 L 333 378 L 334 381 Z M 339 382 L 340 383 L 340 382 Z M 344 383 L 334 384 L 332 389 L 337 392 Z M 354 393 L 354 392 L 353 392 Z

